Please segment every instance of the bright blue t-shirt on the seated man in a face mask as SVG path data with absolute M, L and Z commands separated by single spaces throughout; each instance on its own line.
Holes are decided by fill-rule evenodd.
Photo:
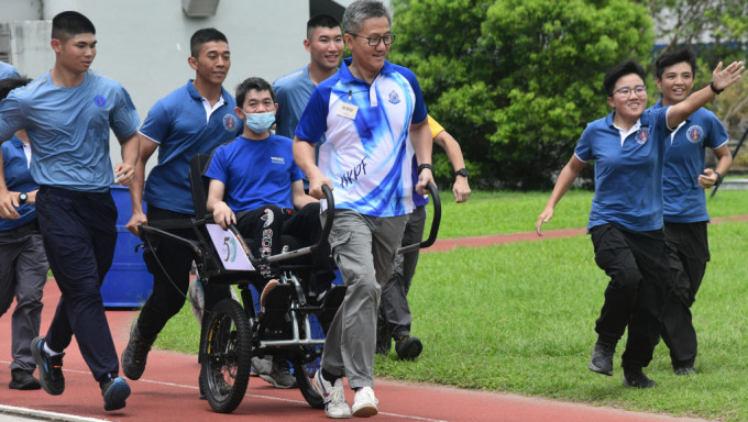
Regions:
M 239 136 L 213 152 L 206 176 L 226 185 L 223 200 L 233 212 L 268 204 L 293 208 L 290 184 L 304 177 L 293 143 L 277 135 L 262 141 Z

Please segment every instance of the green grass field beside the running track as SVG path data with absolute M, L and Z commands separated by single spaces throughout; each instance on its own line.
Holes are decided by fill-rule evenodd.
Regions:
M 530 232 L 548 193 L 476 192 L 454 204 L 443 192 L 440 237 Z M 569 192 L 547 230 L 583 227 L 592 193 Z M 748 214 L 748 192 L 719 191 L 714 218 Z M 748 421 L 748 223 L 710 226 L 710 263 L 692 311 L 700 355 L 692 377 L 672 375 L 660 344 L 647 374 L 652 390 L 622 386 L 622 341 L 614 377 L 586 368 L 607 284 L 587 236 L 422 254 L 409 302 L 416 362 L 377 356 L 376 377 L 514 392 L 594 406 L 724 421 Z M 196 353 L 199 327 L 188 307 L 156 346 Z

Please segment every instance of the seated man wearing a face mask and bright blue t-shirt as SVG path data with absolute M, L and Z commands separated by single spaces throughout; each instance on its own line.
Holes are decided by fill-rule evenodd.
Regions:
M 244 132 L 213 153 L 206 176 L 210 178 L 208 211 L 222 227 L 234 223 L 255 256 L 282 252 L 280 235 L 298 237 L 311 245 L 321 235 L 319 201 L 304 192 L 304 174 L 294 162 L 293 141 L 271 133 L 278 104 L 264 79 L 249 78 L 237 88 L 237 114 Z M 294 212 L 294 209 L 298 211 Z M 317 255 L 326 260 L 326 254 Z M 279 277 L 275 264 L 257 268 L 262 281 L 261 307 Z M 277 388 L 296 386 L 288 363 L 273 360 L 263 370 L 253 359 L 260 377 Z

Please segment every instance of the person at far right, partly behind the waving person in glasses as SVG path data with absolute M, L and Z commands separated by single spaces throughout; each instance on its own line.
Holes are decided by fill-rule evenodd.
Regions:
M 670 107 L 685 100 L 696 74 L 693 49 L 664 53 L 654 66 L 654 81 L 662 91 L 662 100 L 653 108 Z M 670 348 L 676 375 L 696 373 L 696 331 L 690 308 L 710 260 L 706 235 L 710 215 L 704 189 L 719 185 L 733 164 L 728 141 L 719 119 L 701 108 L 678 126 L 666 143 L 662 178 L 664 237 L 673 275 L 662 313 L 662 340 Z M 711 148 L 717 157 L 715 169 L 705 167 L 706 148 Z

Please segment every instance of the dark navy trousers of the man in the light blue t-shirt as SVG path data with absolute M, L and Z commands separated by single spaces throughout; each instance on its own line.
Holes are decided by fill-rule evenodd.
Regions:
M 107 192 L 42 186 L 36 214 L 50 267 L 62 297 L 46 334 L 55 352 L 75 334 L 80 354 L 98 381 L 119 373 L 119 359 L 100 287 L 117 245 L 117 207 Z

